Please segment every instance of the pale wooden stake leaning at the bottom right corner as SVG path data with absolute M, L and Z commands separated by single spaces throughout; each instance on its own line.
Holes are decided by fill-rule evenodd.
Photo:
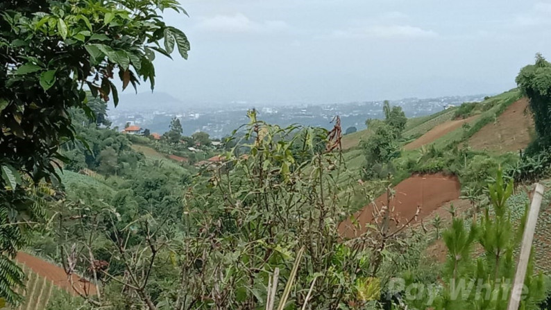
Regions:
M 536 183 L 534 198 L 532 205 L 528 211 L 528 218 L 523 234 L 523 243 L 520 245 L 520 257 L 518 257 L 518 265 L 516 267 L 516 275 L 513 287 L 511 287 L 511 298 L 509 298 L 509 307 L 507 310 L 518 310 L 520 298 L 523 293 L 524 279 L 526 277 L 526 269 L 532 252 L 532 241 L 534 240 L 534 232 L 536 231 L 536 223 L 538 221 L 539 208 L 543 198 L 543 185 Z

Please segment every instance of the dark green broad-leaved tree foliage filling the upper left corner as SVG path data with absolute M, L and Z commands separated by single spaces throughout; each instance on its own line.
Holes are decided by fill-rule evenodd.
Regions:
M 0 207 L 12 214 L 8 222 L 32 213 L 33 202 L 15 183 L 27 187 L 57 175 L 56 160 L 65 160 L 60 144 L 76 138 L 70 109 L 105 123 L 85 87 L 117 105 L 115 76 L 122 89 L 140 80 L 153 89 L 155 53 L 169 56 L 176 46 L 187 58 L 189 42 L 164 23 L 165 9 L 184 12 L 174 0 L 0 3 Z M 19 240 L 0 241 L 0 255 L 15 255 Z M 12 293 L 0 288 L 0 296 Z

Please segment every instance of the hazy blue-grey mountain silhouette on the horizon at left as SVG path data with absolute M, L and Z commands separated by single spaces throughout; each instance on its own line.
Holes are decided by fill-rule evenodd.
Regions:
M 164 110 L 188 107 L 183 101 L 164 92 L 128 92 L 119 96 L 117 109 L 121 110 Z

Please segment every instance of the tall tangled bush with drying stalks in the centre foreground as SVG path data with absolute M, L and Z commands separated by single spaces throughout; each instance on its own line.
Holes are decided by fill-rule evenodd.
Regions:
M 341 238 L 337 227 L 350 209 L 348 197 L 339 194 L 346 185 L 335 178 L 344 170 L 341 156 L 318 148 L 335 143 L 326 130 L 280 128 L 258 121 L 254 112 L 249 116 L 222 166 L 204 169 L 180 192 L 179 208 L 159 201 L 171 181 L 153 171 L 131 182 L 133 194 L 119 191 L 110 201 L 80 197 L 61 206 L 60 246 L 76 242 L 111 264 L 96 272 L 106 286 L 90 303 L 115 309 L 121 301 L 149 310 L 265 309 L 269 279 L 279 270 L 275 304 L 287 291 L 287 307 L 294 309 L 362 309 L 370 277 L 384 282 L 418 264 L 423 236 L 397 235 L 384 244 L 373 234 Z M 247 156 L 237 150 L 247 150 Z M 159 190 L 144 196 L 146 188 Z M 142 196 L 135 199 L 138 205 L 150 205 L 140 206 L 134 218 L 133 204 L 114 205 L 125 205 L 131 195 Z M 75 213 L 86 216 L 74 223 Z M 77 255 L 80 270 L 94 260 L 87 250 Z

